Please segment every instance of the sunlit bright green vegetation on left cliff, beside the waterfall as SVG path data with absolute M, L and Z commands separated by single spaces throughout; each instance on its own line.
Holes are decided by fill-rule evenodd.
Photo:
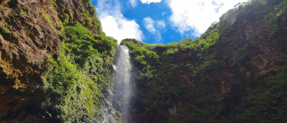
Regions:
M 47 71 L 42 76 L 45 96 L 39 100 L 46 112 L 42 115 L 56 115 L 66 122 L 92 122 L 100 117 L 103 92 L 113 90 L 113 73 L 108 68 L 113 65 L 117 43 L 104 34 L 91 34 L 80 23 L 66 26 L 65 32 L 61 49 L 46 61 Z

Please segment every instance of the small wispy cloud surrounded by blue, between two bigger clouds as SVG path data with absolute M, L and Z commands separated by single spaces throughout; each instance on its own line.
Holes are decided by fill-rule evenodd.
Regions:
M 160 31 L 165 30 L 165 23 L 162 20 L 154 21 L 150 17 L 145 17 L 144 20 L 144 26 L 148 30 L 148 32 L 155 35 L 156 40 L 161 40 L 161 34 Z

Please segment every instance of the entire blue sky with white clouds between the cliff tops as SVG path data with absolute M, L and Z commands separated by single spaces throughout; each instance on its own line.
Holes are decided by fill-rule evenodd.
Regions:
M 91 0 L 103 31 L 118 40 L 167 44 L 199 37 L 212 22 L 247 0 Z

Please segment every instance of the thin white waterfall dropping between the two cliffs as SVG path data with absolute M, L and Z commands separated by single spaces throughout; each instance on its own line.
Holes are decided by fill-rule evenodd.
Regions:
M 123 115 L 123 122 L 131 122 L 131 58 L 127 46 L 120 46 L 117 49 L 117 53 L 115 56 L 116 62 L 115 65 L 113 65 L 115 70 L 114 93 L 116 95 L 113 104 L 118 104 L 118 108 Z

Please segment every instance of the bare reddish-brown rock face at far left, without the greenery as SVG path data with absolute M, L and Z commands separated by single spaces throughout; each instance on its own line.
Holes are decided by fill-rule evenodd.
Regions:
M 53 26 L 60 23 L 52 6 L 48 0 L 1 1 L 1 117 L 33 99 L 28 91 L 41 83 L 44 58 L 60 48 Z

